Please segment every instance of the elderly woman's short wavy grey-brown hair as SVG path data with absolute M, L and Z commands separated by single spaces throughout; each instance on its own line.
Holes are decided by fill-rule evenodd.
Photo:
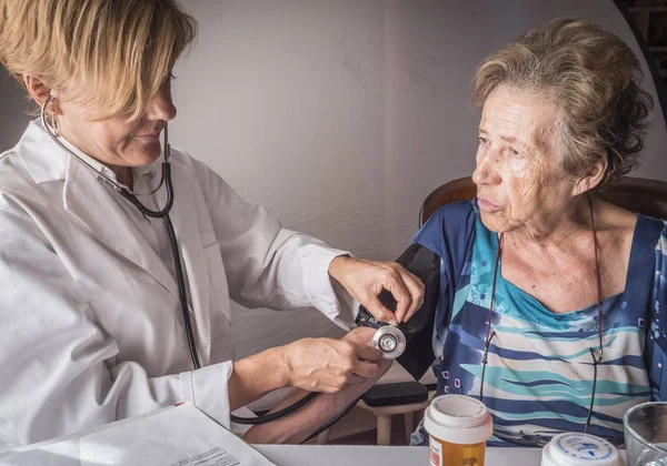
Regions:
M 576 180 L 605 158 L 601 186 L 638 165 L 653 108 L 643 79 L 639 60 L 617 36 L 589 21 L 557 19 L 489 55 L 472 80 L 472 103 L 482 109 L 502 84 L 552 99 L 561 113 L 561 174 Z

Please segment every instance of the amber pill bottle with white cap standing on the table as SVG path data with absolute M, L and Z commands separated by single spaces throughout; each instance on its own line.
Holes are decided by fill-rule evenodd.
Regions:
M 484 466 L 494 421 L 484 403 L 465 395 L 434 398 L 424 414 L 431 466 Z

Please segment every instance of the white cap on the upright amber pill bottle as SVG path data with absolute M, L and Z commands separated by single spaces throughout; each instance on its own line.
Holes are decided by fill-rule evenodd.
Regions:
M 472 445 L 489 439 L 494 419 L 484 403 L 470 396 L 442 395 L 426 409 L 424 427 L 439 440 Z

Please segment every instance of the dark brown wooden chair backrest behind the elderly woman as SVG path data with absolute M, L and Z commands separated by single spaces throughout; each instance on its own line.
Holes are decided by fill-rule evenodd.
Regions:
M 442 184 L 434 190 L 421 204 L 419 225 L 424 225 L 438 207 L 450 202 L 469 201 L 476 194 L 477 186 L 470 176 Z M 667 182 L 624 176 L 611 182 L 597 195 L 630 212 L 667 219 Z

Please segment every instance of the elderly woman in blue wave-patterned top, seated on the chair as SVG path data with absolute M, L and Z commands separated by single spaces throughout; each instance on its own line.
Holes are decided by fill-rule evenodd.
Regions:
M 576 20 L 477 71 L 477 199 L 415 242 L 442 257 L 437 394 L 480 398 L 491 444 L 583 430 L 619 444 L 626 409 L 667 399 L 667 226 L 595 196 L 637 164 L 640 81 L 620 39 Z

